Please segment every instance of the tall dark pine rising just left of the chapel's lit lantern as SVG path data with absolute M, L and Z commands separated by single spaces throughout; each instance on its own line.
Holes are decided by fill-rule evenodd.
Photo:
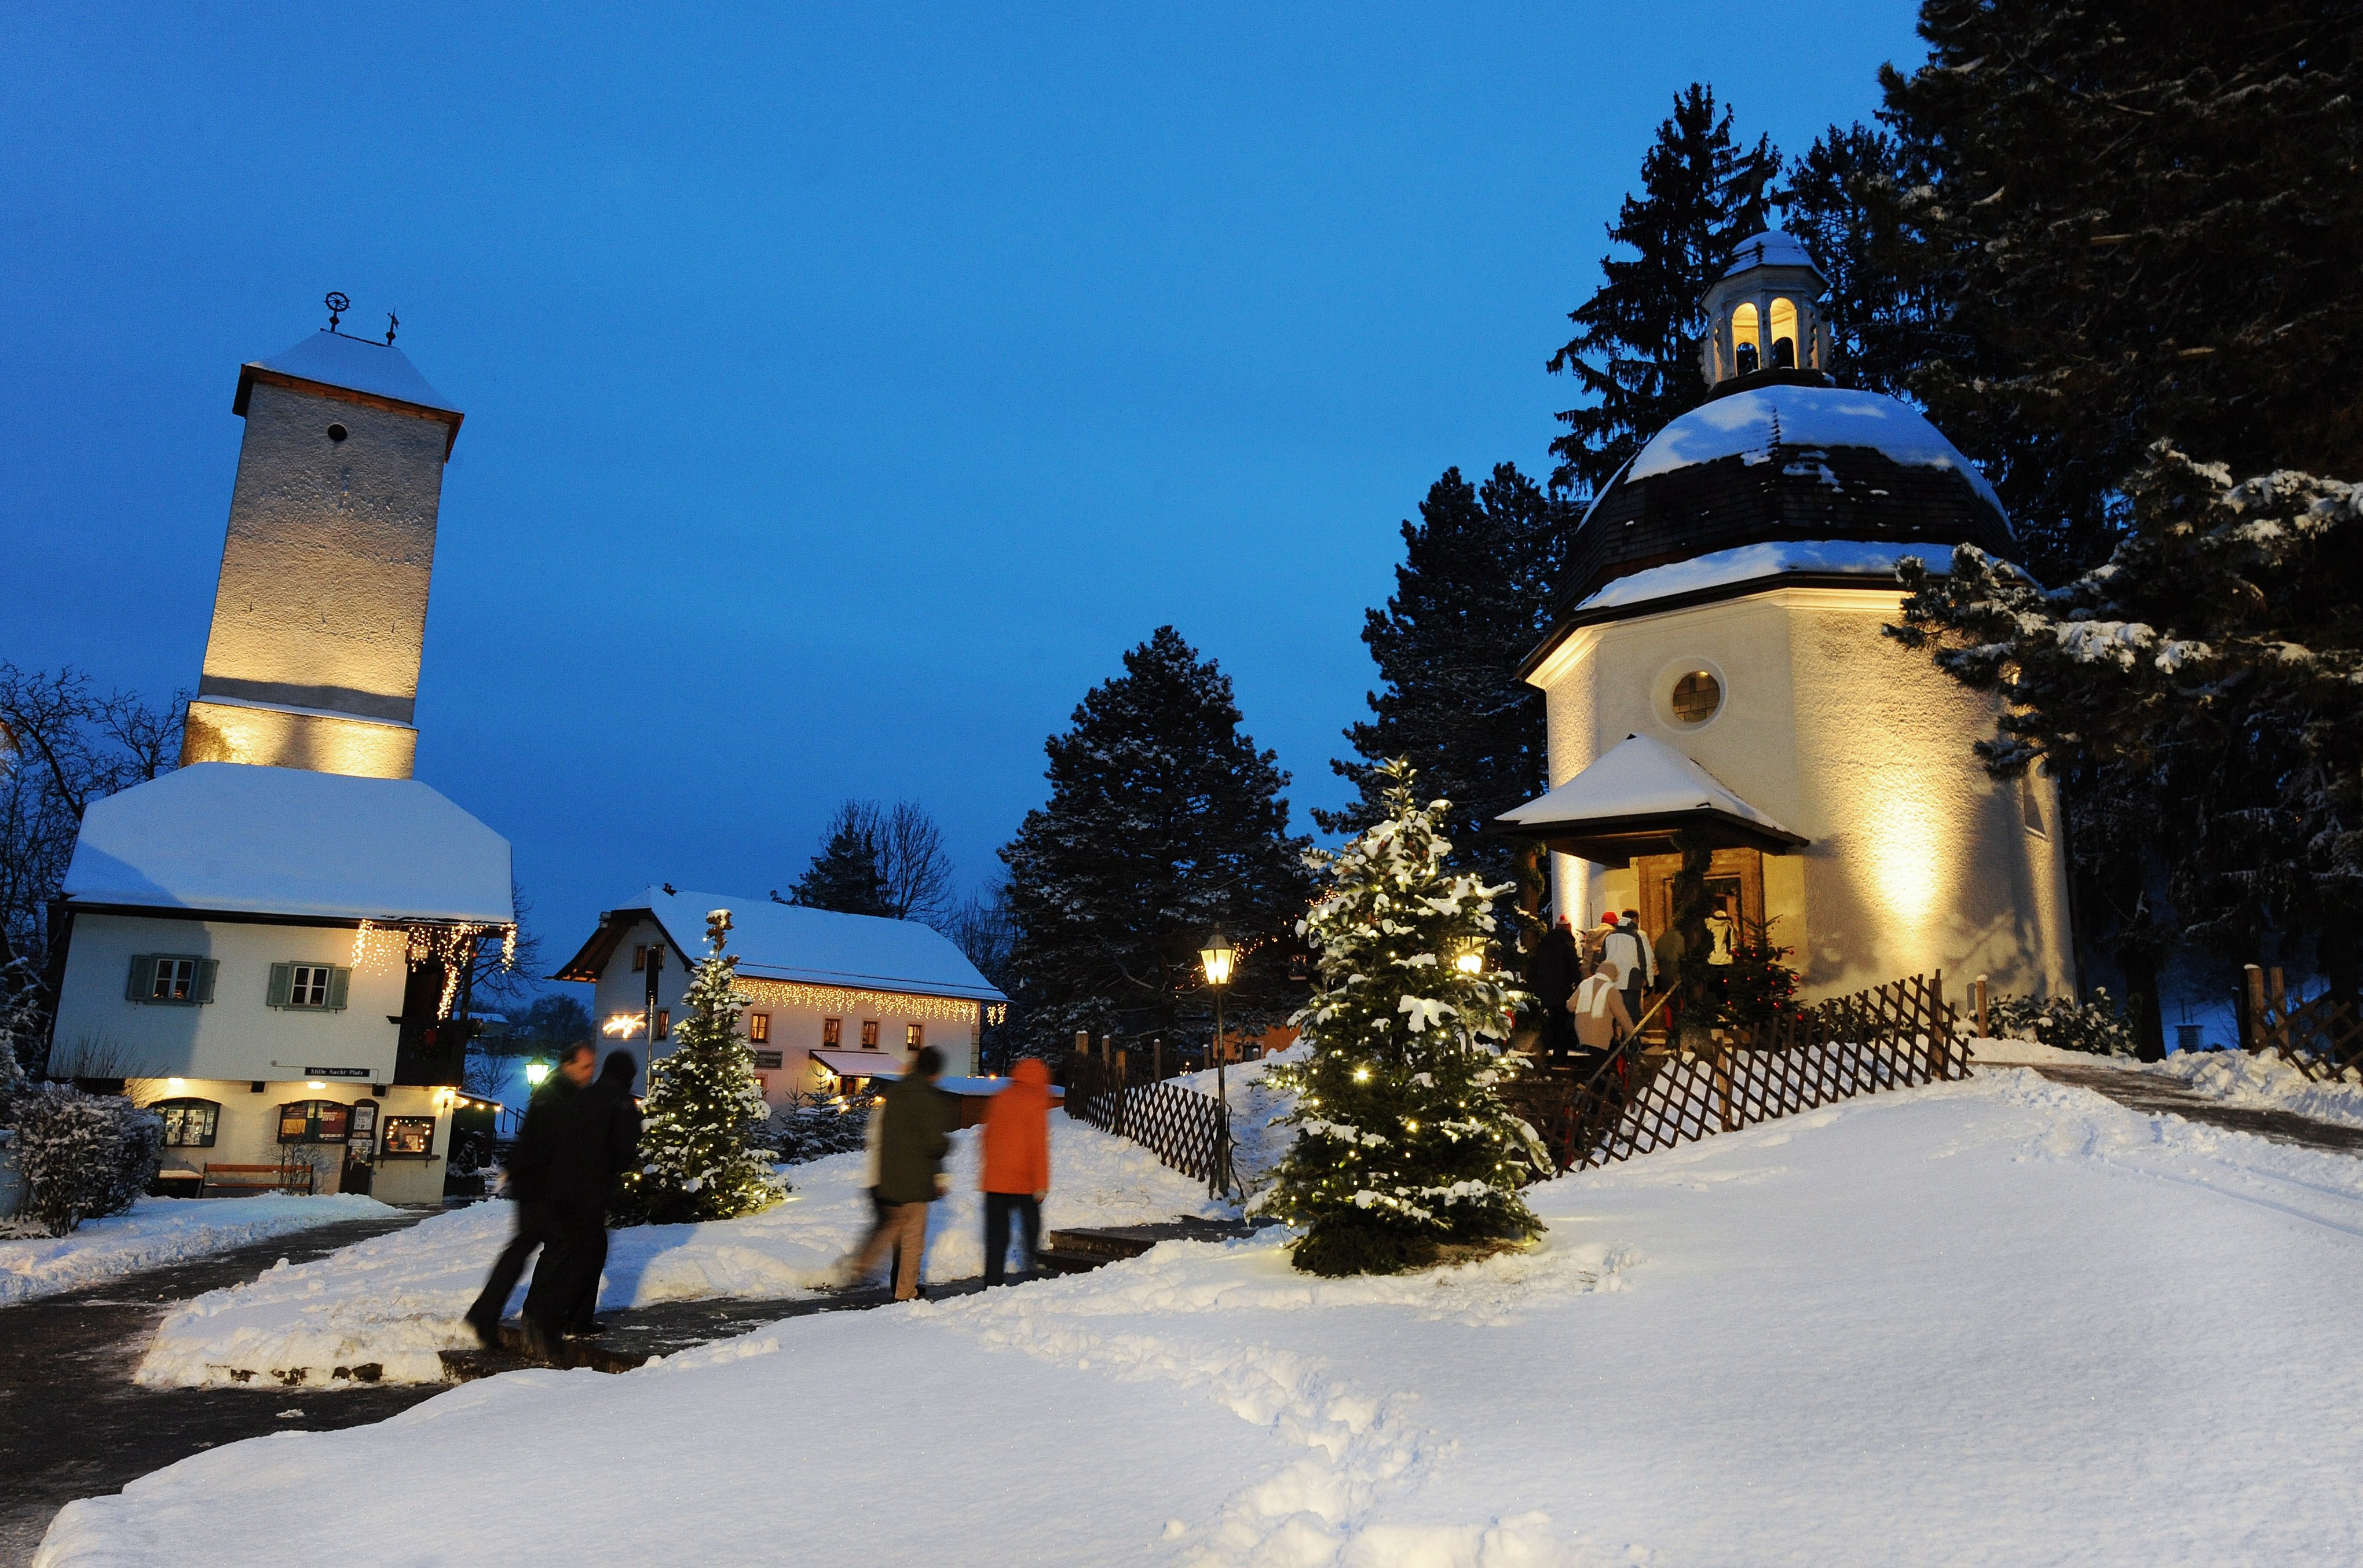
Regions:
M 1550 371 L 1574 373 L 1588 399 L 1560 413 L 1555 489 L 1600 494 L 1642 442 L 1706 397 L 1699 298 L 1739 241 L 1770 224 L 1777 177 L 1772 139 L 1734 142 L 1732 113 L 1716 113 L 1711 87 L 1675 94 L 1673 118 L 1642 156 L 1642 194 L 1626 196 L 1609 224 L 1609 241 L 1638 255 L 1600 260 L 1600 290 L 1567 316 L 1576 335 L 1550 357 Z

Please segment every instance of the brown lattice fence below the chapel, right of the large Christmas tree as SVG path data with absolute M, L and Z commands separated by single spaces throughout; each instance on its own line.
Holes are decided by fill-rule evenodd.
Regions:
M 1526 1077 L 1503 1093 L 1567 1171 L 1964 1077 L 1968 1048 L 1942 975 L 1912 975 L 1697 1051 L 1633 1037 L 1581 1082 Z

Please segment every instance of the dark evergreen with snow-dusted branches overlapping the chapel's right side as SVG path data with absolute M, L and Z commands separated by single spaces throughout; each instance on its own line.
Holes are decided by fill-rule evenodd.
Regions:
M 2146 1051 L 2169 942 L 2235 959 L 2313 935 L 2356 989 L 2363 916 L 2363 489 L 2299 472 L 2233 484 L 2160 444 L 2127 484 L 2110 560 L 2042 590 L 1961 548 L 1905 569 L 1900 642 L 1999 692 L 1978 751 L 2089 784 L 2070 843 L 2103 871 Z M 2091 912 L 2084 909 L 2089 916 Z

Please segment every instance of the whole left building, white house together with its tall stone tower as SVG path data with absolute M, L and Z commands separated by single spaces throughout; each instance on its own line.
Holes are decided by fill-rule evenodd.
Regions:
M 189 1190 L 435 1202 L 466 1098 L 458 956 L 515 930 L 508 841 L 411 777 L 461 413 L 333 326 L 243 366 L 232 409 L 182 767 L 83 817 L 50 1072 L 158 1110 Z

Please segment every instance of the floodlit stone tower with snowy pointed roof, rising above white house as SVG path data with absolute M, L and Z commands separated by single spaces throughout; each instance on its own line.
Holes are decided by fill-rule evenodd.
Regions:
M 338 331 L 241 366 L 232 411 L 246 442 L 182 763 L 406 779 L 461 411 Z

